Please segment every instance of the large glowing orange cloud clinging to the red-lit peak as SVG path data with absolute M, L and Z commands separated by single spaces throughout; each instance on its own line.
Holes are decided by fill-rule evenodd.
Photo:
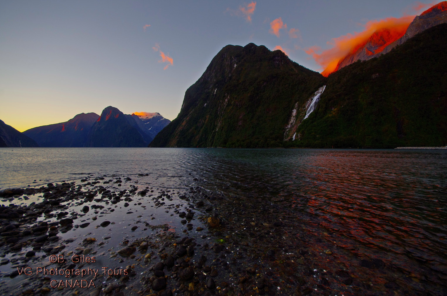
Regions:
M 380 53 L 388 44 L 401 38 L 413 19 L 414 16 L 405 16 L 400 18 L 388 17 L 380 21 L 368 21 L 363 32 L 346 34 L 338 38 L 333 38 L 331 42 L 328 42 L 328 44 L 333 45 L 333 47 L 328 50 L 319 53 L 321 50 L 320 47 L 309 47 L 305 52 L 308 55 L 312 55 L 312 58 L 325 69 L 321 74 L 328 76 L 330 73 L 337 70 L 338 63 L 344 59 L 346 55 L 352 54 L 363 47 L 371 35 L 376 31 L 388 29 L 390 30 L 390 34 L 387 36 L 380 34 L 376 36 L 377 38 L 386 38 L 386 43 L 375 50 L 374 53 L 371 53 L 371 55 Z

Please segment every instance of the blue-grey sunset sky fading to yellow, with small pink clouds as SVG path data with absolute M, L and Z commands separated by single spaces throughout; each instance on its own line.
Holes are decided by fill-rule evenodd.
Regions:
M 1 0 L 0 119 L 25 131 L 114 106 L 173 120 L 228 44 L 322 72 L 315 51 L 438 2 Z

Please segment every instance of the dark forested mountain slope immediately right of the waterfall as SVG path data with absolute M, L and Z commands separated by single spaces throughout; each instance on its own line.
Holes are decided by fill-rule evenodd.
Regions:
M 329 75 L 297 147 L 447 145 L 447 24 Z

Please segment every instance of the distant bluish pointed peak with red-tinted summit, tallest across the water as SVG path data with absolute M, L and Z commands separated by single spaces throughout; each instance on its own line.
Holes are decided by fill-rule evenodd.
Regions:
M 117 108 L 105 108 L 93 123 L 88 147 L 147 147 L 152 137 L 140 128 L 138 116 L 123 114 Z

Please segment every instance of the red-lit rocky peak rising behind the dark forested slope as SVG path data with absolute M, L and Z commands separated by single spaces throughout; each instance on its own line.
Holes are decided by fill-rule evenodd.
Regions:
M 416 16 L 413 21 L 376 30 L 366 42 L 358 44 L 335 68 L 337 71 L 357 60 L 368 60 L 386 54 L 397 45 L 435 25 L 447 23 L 447 1 L 440 2 Z

